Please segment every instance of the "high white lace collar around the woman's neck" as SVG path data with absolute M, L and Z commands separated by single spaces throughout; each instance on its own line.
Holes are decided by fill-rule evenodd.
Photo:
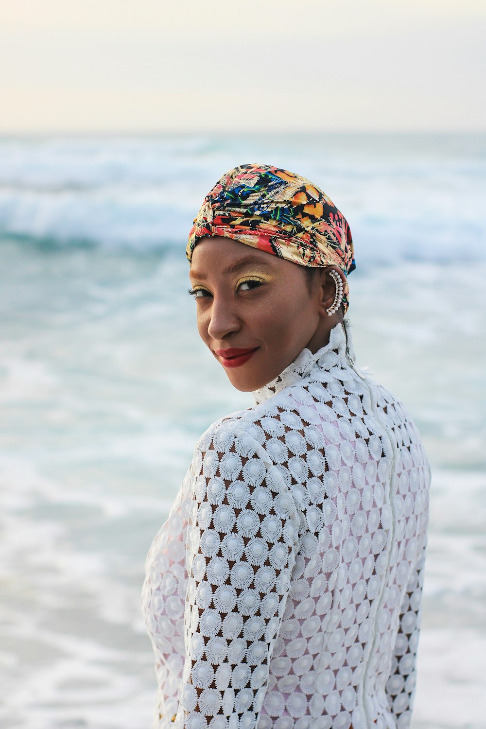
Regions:
M 312 375 L 315 370 L 330 370 L 331 367 L 346 365 L 356 359 L 348 319 L 338 322 L 329 332 L 329 343 L 316 352 L 305 347 L 288 367 L 274 380 L 252 392 L 256 405 L 273 397 L 285 387 L 294 385 Z

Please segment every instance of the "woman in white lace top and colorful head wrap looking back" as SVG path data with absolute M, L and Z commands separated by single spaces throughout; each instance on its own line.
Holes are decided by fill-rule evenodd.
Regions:
M 255 164 L 194 223 L 198 330 L 254 405 L 200 437 L 147 558 L 154 727 L 408 727 L 430 469 L 355 367 L 348 223 Z

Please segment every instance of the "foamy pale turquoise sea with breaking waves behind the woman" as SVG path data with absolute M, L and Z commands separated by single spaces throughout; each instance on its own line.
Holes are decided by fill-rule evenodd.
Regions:
M 486 136 L 0 139 L 0 724 L 144 729 L 144 559 L 195 440 L 252 404 L 200 342 L 187 231 L 238 163 L 348 218 L 358 364 L 433 467 L 415 729 L 486 727 Z

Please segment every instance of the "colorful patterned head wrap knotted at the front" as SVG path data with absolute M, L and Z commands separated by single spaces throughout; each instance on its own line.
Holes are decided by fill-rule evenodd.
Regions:
M 308 179 L 273 165 L 238 165 L 205 196 L 189 233 L 189 264 L 197 241 L 222 235 L 302 266 L 356 268 L 348 221 Z

